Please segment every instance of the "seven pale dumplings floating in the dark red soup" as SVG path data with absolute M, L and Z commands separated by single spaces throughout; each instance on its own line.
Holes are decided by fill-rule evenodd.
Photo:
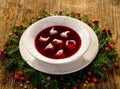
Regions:
M 70 33 L 70 31 L 64 31 L 60 33 L 60 37 L 63 37 L 65 39 L 68 38 L 68 34 Z M 52 35 L 56 35 L 58 34 L 58 31 L 54 29 L 54 27 L 52 27 L 49 31 L 49 34 Z M 43 43 L 47 43 L 50 40 L 50 37 L 43 37 L 40 36 L 39 41 L 43 42 Z M 44 48 L 44 51 L 47 50 L 54 50 L 55 46 L 54 45 L 58 45 L 61 49 L 58 50 L 55 54 L 56 57 L 61 57 L 64 56 L 64 50 L 62 49 L 62 47 L 65 45 L 65 47 L 68 50 L 73 50 L 76 47 L 76 41 L 75 40 L 67 40 L 66 42 L 63 42 L 63 40 L 60 39 L 53 39 L 52 42 L 48 43 L 47 46 Z

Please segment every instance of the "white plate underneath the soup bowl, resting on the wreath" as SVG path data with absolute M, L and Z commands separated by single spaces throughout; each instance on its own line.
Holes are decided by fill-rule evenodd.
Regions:
M 88 51 L 84 54 L 84 56 L 80 60 L 74 61 L 74 63 L 72 63 L 72 65 L 69 65 L 69 64 L 68 65 L 65 65 L 65 64 L 52 65 L 52 64 L 48 64 L 43 61 L 40 61 L 40 60 L 36 59 L 34 56 L 32 56 L 28 52 L 28 50 L 25 46 L 24 38 L 27 34 L 27 30 L 23 33 L 23 35 L 20 39 L 19 49 L 20 49 L 21 56 L 27 62 L 28 65 L 30 65 L 34 69 L 44 72 L 44 73 L 60 75 L 60 74 L 73 73 L 78 70 L 81 70 L 84 67 L 88 66 L 93 61 L 93 59 L 97 55 L 98 48 L 99 48 L 98 39 L 97 39 L 95 32 L 88 26 L 86 26 L 86 28 L 88 29 L 90 36 L 91 36 L 90 37 L 91 38 L 90 47 L 89 47 Z

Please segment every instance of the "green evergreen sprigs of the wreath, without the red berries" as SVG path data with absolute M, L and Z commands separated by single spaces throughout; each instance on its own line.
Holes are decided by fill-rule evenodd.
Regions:
M 55 15 L 59 15 L 59 13 L 55 12 Z M 66 11 L 62 12 L 62 15 L 66 15 Z M 70 15 L 73 18 L 78 18 L 75 12 L 71 12 Z M 28 22 L 27 19 L 24 19 L 25 23 L 27 21 L 28 24 L 31 24 L 47 16 L 50 16 L 50 14 L 42 10 L 38 11 L 38 17 L 32 18 L 32 22 Z M 62 76 L 45 74 L 31 68 L 22 59 L 19 52 L 19 40 L 22 33 L 27 28 L 24 25 L 13 27 L 12 35 L 8 37 L 8 41 L 10 42 L 10 44 L 5 45 L 5 50 L 7 51 L 8 56 L 5 57 L 5 62 L 3 63 L 3 66 L 5 67 L 5 69 L 8 70 L 11 70 L 13 68 L 22 70 L 24 74 L 30 79 L 32 86 L 38 86 L 40 87 L 40 89 L 63 89 L 65 87 L 67 89 L 71 89 L 71 87 L 73 86 L 81 87 L 80 83 L 78 83 L 77 81 L 80 80 L 81 82 L 85 82 L 88 77 L 87 71 L 93 72 L 94 75 L 92 77 L 104 79 L 106 77 L 106 72 L 103 69 L 112 68 L 113 63 L 111 59 L 115 59 L 117 57 L 117 51 L 114 48 L 111 48 L 110 50 L 105 50 L 105 47 L 109 46 L 112 41 L 112 34 L 108 31 L 102 31 L 103 26 L 100 26 L 99 23 L 96 24 L 94 22 L 91 22 L 88 15 L 84 15 L 81 18 L 83 22 L 87 24 L 89 22 L 89 25 L 95 31 L 99 40 L 99 52 L 94 61 L 88 67 L 75 73 Z M 48 76 L 50 77 L 50 80 L 46 79 Z

